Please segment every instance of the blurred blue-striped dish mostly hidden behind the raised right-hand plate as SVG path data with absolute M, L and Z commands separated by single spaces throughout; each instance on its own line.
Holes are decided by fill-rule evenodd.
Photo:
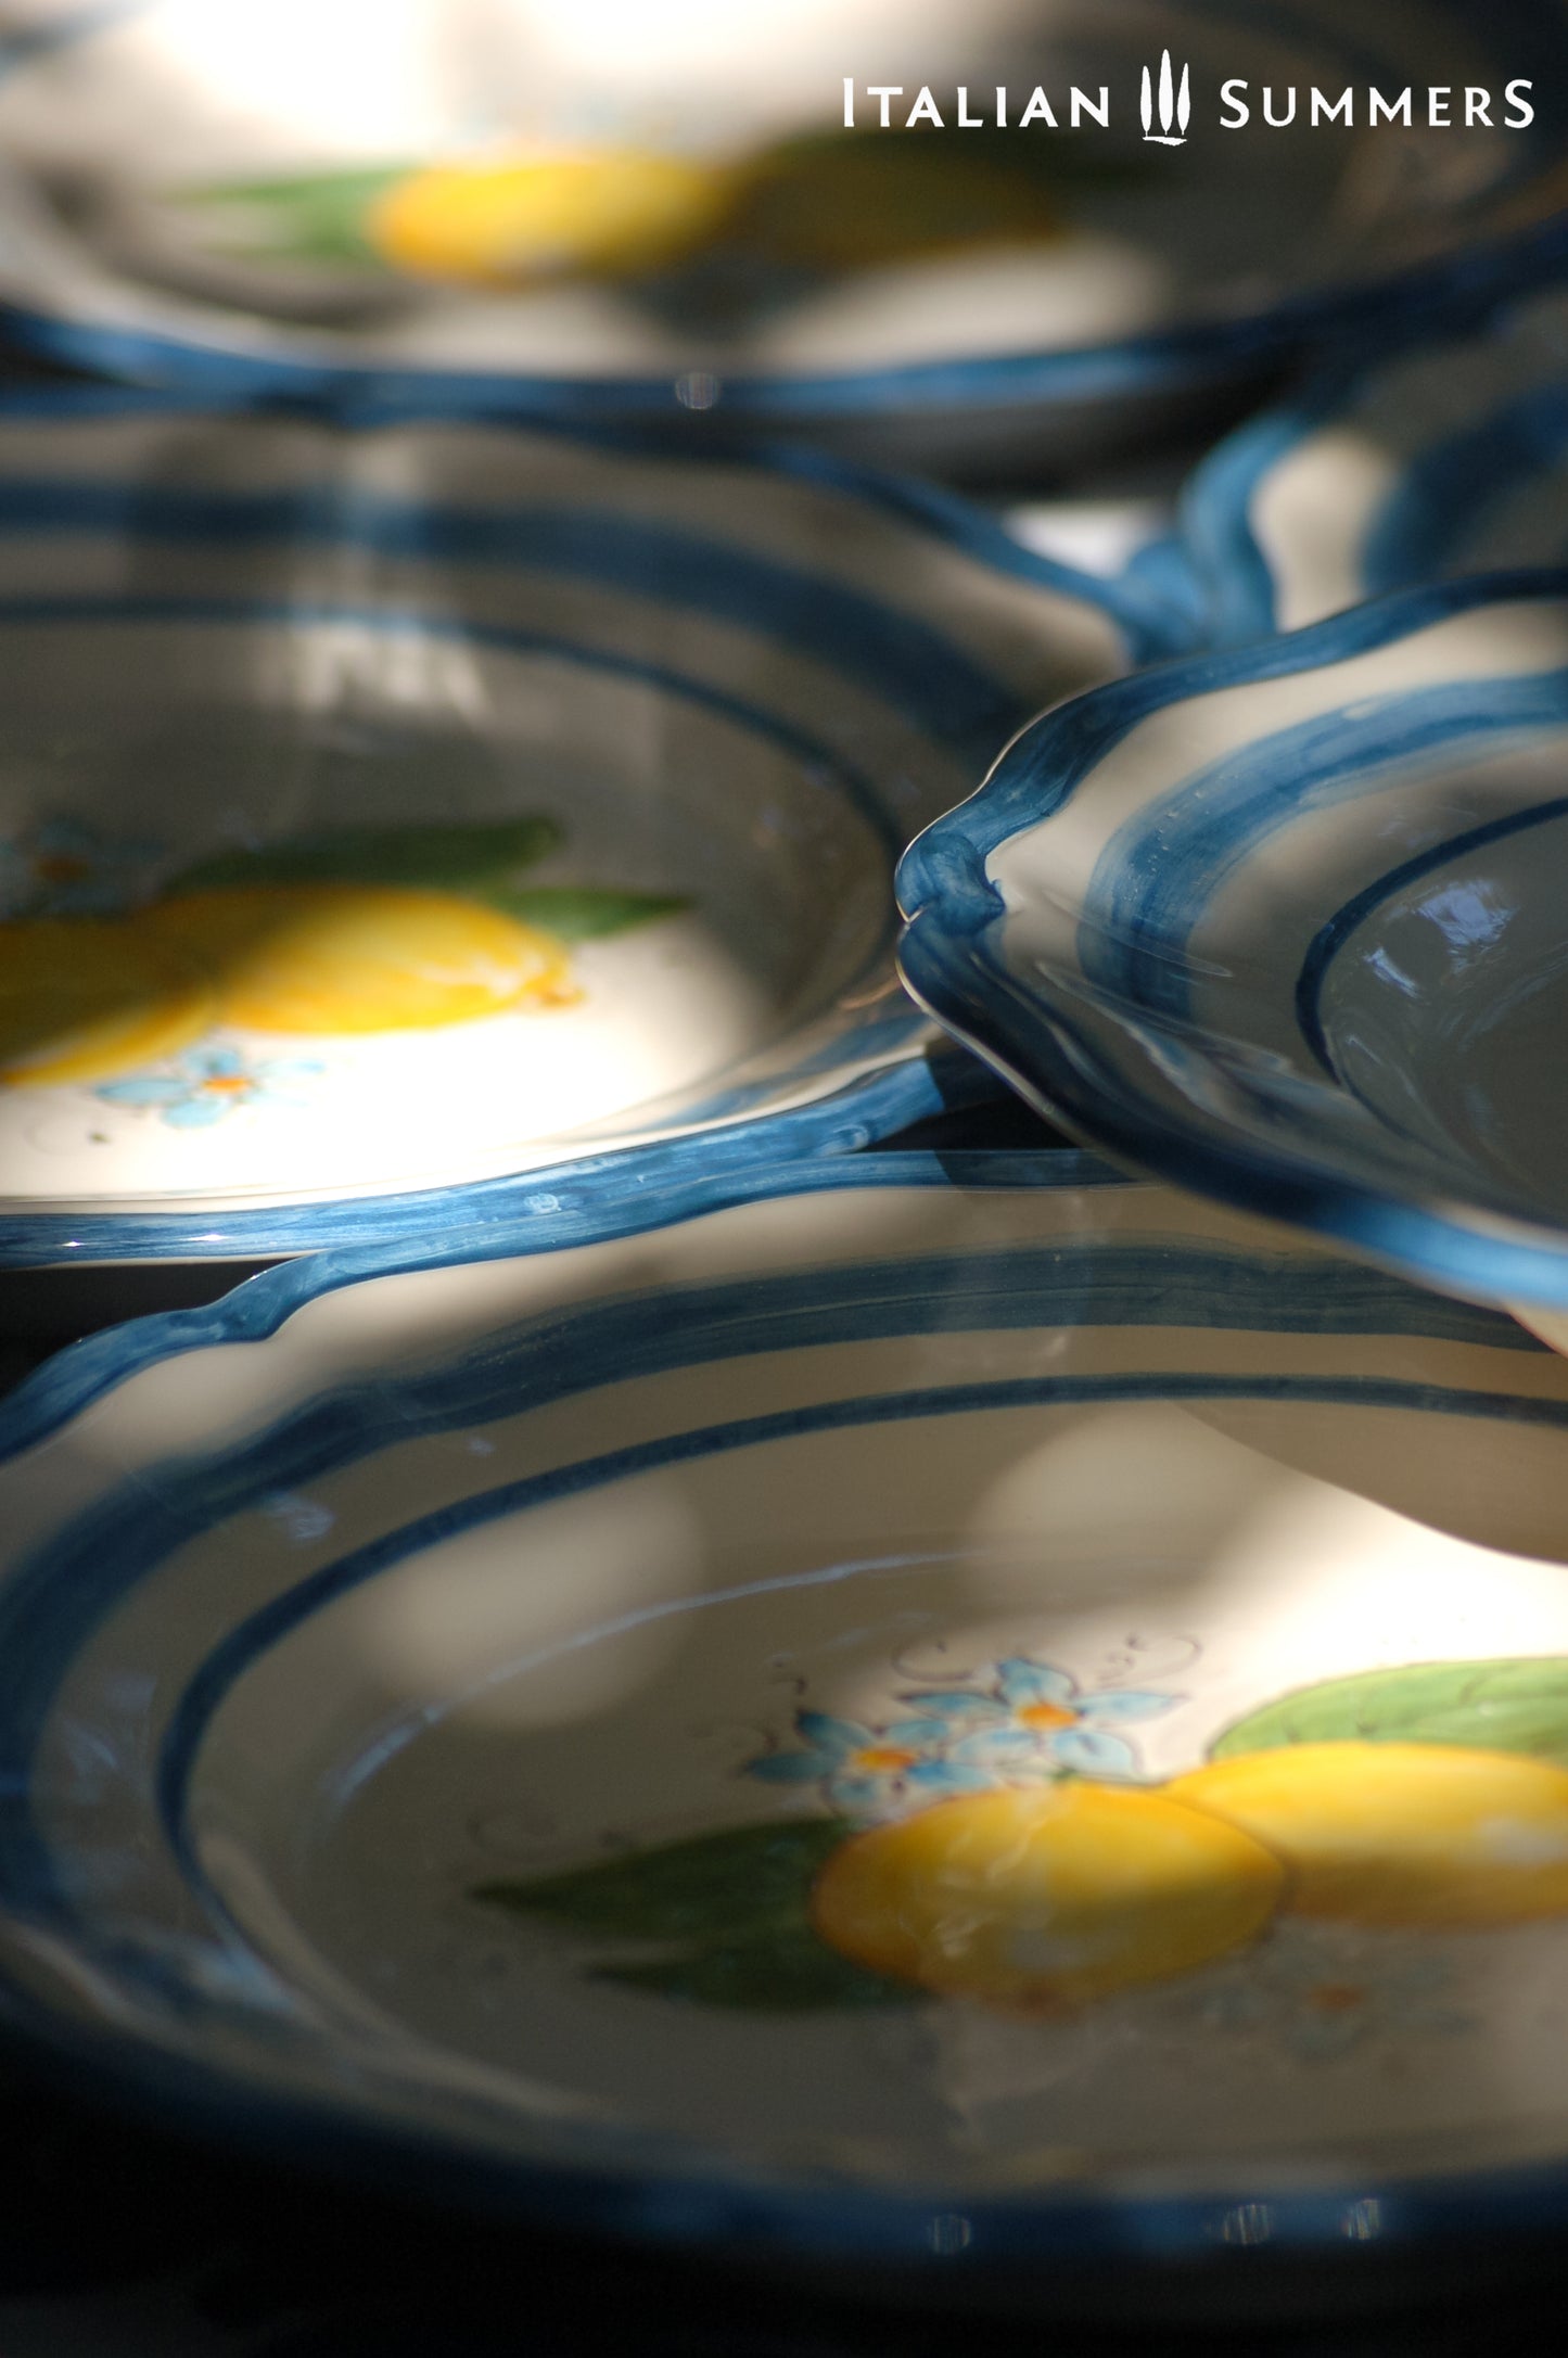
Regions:
M 1184 498 L 1217 644 L 1389 590 L 1568 556 L 1568 297 L 1337 370 L 1231 434 Z

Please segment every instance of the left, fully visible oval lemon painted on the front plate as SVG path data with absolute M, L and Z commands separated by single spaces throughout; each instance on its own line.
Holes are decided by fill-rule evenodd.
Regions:
M 1252 1941 L 1283 1884 L 1240 1827 L 1085 1780 L 960 1794 L 854 1835 L 811 1922 L 875 1974 L 1049 2014 Z

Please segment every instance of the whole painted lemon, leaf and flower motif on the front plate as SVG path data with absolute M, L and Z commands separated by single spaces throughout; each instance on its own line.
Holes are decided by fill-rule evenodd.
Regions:
M 1372 1948 L 1568 1919 L 1568 1662 L 1330 1679 L 1151 1778 L 1120 1731 L 1184 1700 L 1014 1655 L 903 1693 L 882 1721 L 802 1707 L 795 1740 L 743 1773 L 813 1787 L 825 1816 L 618 1846 L 476 1898 L 578 1934 L 594 1978 L 641 1993 L 1045 2018 L 1177 1978 L 1203 1990 L 1210 1967 L 1261 1988 L 1287 1919 Z M 1313 1969 L 1313 2009 L 1358 2007 L 1384 1967 L 1346 1952 Z M 1427 1988 L 1403 1952 L 1398 1974 Z

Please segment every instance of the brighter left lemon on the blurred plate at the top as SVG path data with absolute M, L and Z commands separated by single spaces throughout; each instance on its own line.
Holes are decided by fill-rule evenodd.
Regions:
M 526 285 L 568 271 L 651 271 L 717 224 L 729 172 L 634 149 L 431 165 L 377 198 L 365 231 L 415 278 Z

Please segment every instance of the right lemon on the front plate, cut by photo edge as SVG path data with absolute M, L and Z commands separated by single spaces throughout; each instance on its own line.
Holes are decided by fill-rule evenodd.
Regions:
M 1165 1792 L 1290 1868 L 1294 1915 L 1523 1924 L 1568 1915 L 1568 1768 L 1460 1745 L 1280 1745 Z

